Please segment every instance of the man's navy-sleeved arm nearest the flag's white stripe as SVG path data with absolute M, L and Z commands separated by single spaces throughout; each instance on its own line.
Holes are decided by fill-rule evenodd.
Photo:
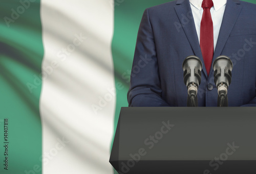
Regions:
M 169 106 L 161 94 L 154 33 L 146 9 L 137 36 L 127 99 L 129 106 Z

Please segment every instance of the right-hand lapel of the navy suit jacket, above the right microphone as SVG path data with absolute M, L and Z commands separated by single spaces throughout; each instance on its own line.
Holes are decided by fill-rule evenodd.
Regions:
M 242 5 L 240 5 L 239 0 L 227 0 L 226 9 L 224 12 L 221 29 L 212 62 L 214 62 L 214 60 L 221 55 L 227 42 L 227 39 L 234 27 L 234 24 L 236 24 L 236 21 L 241 10 Z M 212 67 L 209 75 L 211 75 L 211 73 L 213 73 Z

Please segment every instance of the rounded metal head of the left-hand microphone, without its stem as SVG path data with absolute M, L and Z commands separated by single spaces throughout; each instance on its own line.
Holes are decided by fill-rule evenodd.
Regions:
M 182 69 L 184 71 L 184 83 L 188 86 L 194 83 L 199 86 L 201 83 L 201 71 L 203 68 L 203 63 L 197 56 L 188 56 L 182 63 Z

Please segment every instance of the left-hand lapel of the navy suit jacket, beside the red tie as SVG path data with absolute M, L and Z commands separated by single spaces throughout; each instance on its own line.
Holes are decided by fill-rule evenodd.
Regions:
M 175 11 L 177 13 L 177 16 L 179 17 L 180 23 L 183 27 L 183 30 L 187 36 L 187 39 L 191 45 L 191 48 L 194 51 L 194 54 L 200 58 L 202 63 L 204 64 L 201 48 L 199 45 L 199 40 L 197 36 L 197 30 L 194 22 L 194 18 L 189 18 L 187 14 L 189 12 L 192 13 L 191 8 L 190 8 L 190 3 L 188 0 L 177 0 L 176 6 L 175 6 Z M 184 17 L 188 18 L 188 22 L 184 24 L 182 22 L 184 20 Z M 189 55 L 188 55 L 189 56 Z M 184 57 L 185 59 L 185 57 Z M 203 73 L 207 77 L 207 72 L 205 69 L 205 66 L 203 66 Z

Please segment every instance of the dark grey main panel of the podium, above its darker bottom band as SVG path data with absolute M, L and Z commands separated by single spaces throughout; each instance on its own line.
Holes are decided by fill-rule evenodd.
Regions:
M 122 107 L 113 148 L 118 160 L 256 160 L 255 113 L 256 107 Z

